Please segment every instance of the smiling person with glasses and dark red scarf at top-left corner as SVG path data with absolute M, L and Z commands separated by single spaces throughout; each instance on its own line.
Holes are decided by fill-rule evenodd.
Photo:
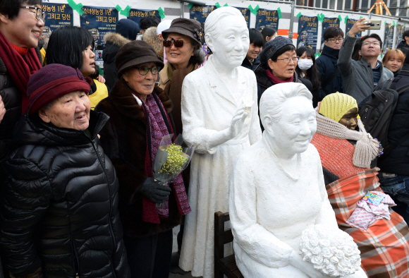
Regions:
M 28 79 L 41 68 L 37 48 L 44 28 L 41 5 L 42 0 L 0 1 L 0 96 L 6 109 L 0 123 L 0 162 L 13 148 L 11 130 L 28 107 Z

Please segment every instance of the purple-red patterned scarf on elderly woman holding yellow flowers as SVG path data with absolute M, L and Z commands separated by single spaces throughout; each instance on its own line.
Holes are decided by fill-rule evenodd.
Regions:
M 135 95 L 135 94 L 134 94 Z M 159 104 L 159 106 L 158 106 Z M 147 133 L 147 140 L 150 140 L 150 147 L 151 150 L 149 152 L 149 142 L 147 142 L 147 150 L 145 156 L 145 174 L 147 176 L 152 177 L 152 165 L 154 164 L 154 159 L 157 155 L 157 151 L 159 149 L 159 144 L 161 143 L 162 137 L 169 134 L 169 130 L 166 126 L 165 120 L 161 114 L 161 111 L 165 111 L 163 104 L 160 101 L 156 101 L 154 96 L 148 95 L 146 99 L 146 104 L 142 104 L 142 108 L 145 111 L 145 115 L 149 118 L 149 131 L 150 131 L 150 138 L 148 138 Z M 166 113 L 166 112 L 165 112 Z M 170 126 L 170 119 L 166 113 L 166 120 Z M 171 128 L 171 132 L 173 133 L 173 129 Z M 181 215 L 188 214 L 191 212 L 190 205 L 188 203 L 188 195 L 186 195 L 185 185 L 183 184 L 182 174 L 176 177 L 175 181 L 173 181 L 173 193 L 176 198 L 176 204 L 178 205 L 178 212 Z M 155 203 L 147 198 L 142 198 L 142 220 L 149 223 L 160 224 L 161 218 L 169 217 L 169 202 L 168 200 L 165 201 L 162 207 L 157 208 Z

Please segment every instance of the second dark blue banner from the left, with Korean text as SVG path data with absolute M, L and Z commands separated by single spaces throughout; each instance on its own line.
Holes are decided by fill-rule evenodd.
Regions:
M 95 40 L 95 46 L 105 45 L 104 35 L 116 31 L 118 11 L 116 8 L 84 6 L 81 16 L 81 27 L 90 30 Z

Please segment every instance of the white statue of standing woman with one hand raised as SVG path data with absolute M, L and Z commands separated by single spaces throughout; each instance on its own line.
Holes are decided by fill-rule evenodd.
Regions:
M 255 74 L 240 66 L 250 45 L 243 15 L 237 8 L 218 8 L 204 31 L 213 54 L 182 87 L 183 138 L 196 145 L 196 153 L 179 266 L 194 277 L 213 278 L 214 212 L 228 211 L 233 162 L 262 132 Z

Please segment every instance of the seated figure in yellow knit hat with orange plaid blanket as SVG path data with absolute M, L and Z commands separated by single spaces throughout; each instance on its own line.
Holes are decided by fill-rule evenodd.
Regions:
M 396 212 L 389 211 L 393 201 L 384 206 L 384 215 L 380 207 L 376 208 L 377 214 L 372 213 L 362 201 L 369 191 L 384 196 L 385 202 L 391 199 L 379 187 L 379 169 L 370 169 L 376 164 L 381 145 L 365 131 L 353 97 L 336 92 L 322 99 L 311 144 L 321 157 L 326 191 L 338 226 L 358 244 L 362 269 L 368 277 L 406 277 L 408 225 Z

